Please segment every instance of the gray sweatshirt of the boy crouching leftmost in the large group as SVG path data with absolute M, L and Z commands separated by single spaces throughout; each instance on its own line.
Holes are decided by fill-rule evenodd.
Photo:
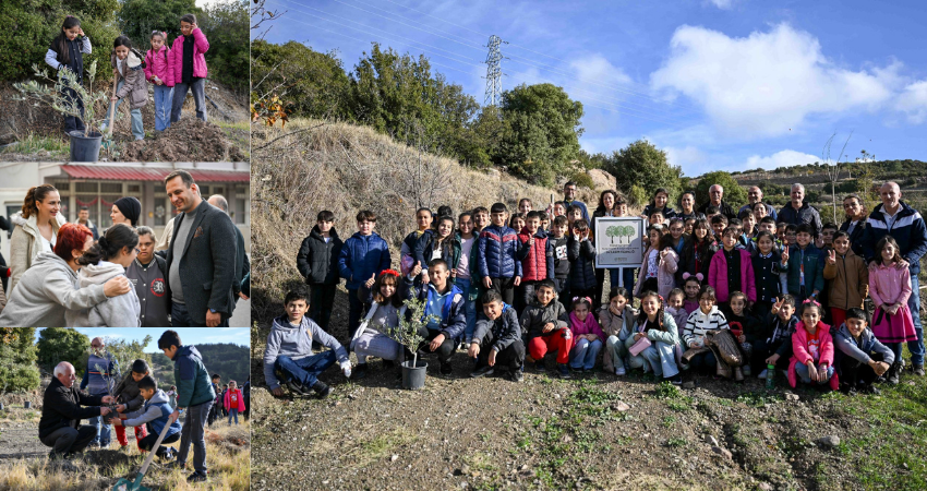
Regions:
M 267 349 L 264 350 L 264 381 L 272 390 L 278 388 L 280 382 L 274 375 L 274 362 L 277 357 L 286 356 L 299 360 L 312 356 L 312 342 L 316 342 L 329 349 L 335 350 L 338 363 L 348 362 L 348 351 L 318 324 L 303 316 L 298 327 L 289 322 L 289 318 L 281 315 L 274 319 L 270 334 L 267 335 Z

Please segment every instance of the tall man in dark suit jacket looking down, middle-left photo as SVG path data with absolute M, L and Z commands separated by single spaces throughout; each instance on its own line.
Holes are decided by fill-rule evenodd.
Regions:
M 171 326 L 227 327 L 234 310 L 236 227 L 200 196 L 190 172 L 174 170 L 165 187 L 180 212 L 167 251 Z

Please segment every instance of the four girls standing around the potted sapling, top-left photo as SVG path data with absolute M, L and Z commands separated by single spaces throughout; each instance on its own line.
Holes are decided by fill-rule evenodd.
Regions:
M 112 73 L 118 84 L 111 103 L 116 110 L 123 100 L 129 101 L 132 118 L 132 135 L 135 140 L 144 140 L 145 129 L 142 123 L 142 107 L 148 101 L 148 83 L 154 85 L 155 131 L 161 132 L 170 128 L 172 122 L 180 120 L 183 101 L 188 91 L 192 92 L 196 105 L 196 117 L 206 120 L 205 80 L 206 58 L 209 41 L 196 24 L 194 14 L 180 17 L 181 35 L 173 40 L 171 48 L 167 46 L 167 33 L 154 31 L 151 34 L 151 49 L 142 55 L 132 47 L 132 41 L 125 36 L 117 37 L 112 43 Z M 64 19 L 61 33 L 51 41 L 45 56 L 45 62 L 52 69 L 69 69 L 77 82 L 83 80 L 83 55 L 93 50 L 91 39 L 81 28 L 81 21 L 72 15 Z M 64 97 L 76 105 L 81 118 L 65 116 L 64 131 L 84 131 L 83 100 L 72 89 L 64 89 Z M 112 124 L 107 117 L 101 129 Z

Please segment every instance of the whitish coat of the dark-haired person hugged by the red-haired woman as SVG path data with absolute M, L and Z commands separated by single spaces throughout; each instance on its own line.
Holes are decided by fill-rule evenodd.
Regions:
M 81 268 L 80 286 L 103 286 L 116 276 L 124 276 L 125 268 L 116 263 L 100 261 L 98 264 L 87 264 Z M 64 315 L 68 327 L 139 327 L 139 313 L 142 306 L 135 290 L 106 299 L 100 303 L 80 310 L 69 310 Z

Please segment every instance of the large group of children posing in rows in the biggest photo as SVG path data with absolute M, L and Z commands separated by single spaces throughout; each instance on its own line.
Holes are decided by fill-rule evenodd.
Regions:
M 617 212 L 609 216 L 626 214 L 627 204 L 612 193 L 603 193 Z M 344 243 L 334 214 L 320 213 L 298 262 L 313 301 L 321 303 L 312 306 L 310 318 L 322 325 L 304 319 L 310 296 L 296 291 L 275 330 L 302 326 L 312 333 L 311 342 L 337 349 L 301 367 L 268 350 L 268 380 L 276 381 L 275 373 L 294 380 L 310 367 L 311 376 L 296 378 L 296 388 L 327 394 L 317 369 L 337 360 L 350 373 L 349 350 L 357 354 L 359 376 L 366 373 L 369 356 L 401 361 L 410 354 L 388 333 L 409 315 L 402 300 L 413 297 L 426 302 L 431 315 L 419 350 L 438 354 L 441 373 L 453 372 L 458 347 L 477 360 L 471 376 L 499 370 L 515 381 L 522 379 L 526 358 L 543 369 L 552 354 L 559 375 L 569 378 L 570 368 L 592 370 L 605 348 L 602 367 L 616 375 L 642 369 L 681 384 L 684 371 L 743 380 L 779 370 L 793 386 L 800 380 L 871 392 L 882 375 L 898 383 L 902 343 L 916 339 L 907 308 L 908 270 L 899 267 L 903 261 L 891 236 L 876 243 L 870 268 L 853 251 L 850 235 L 832 225 L 815 237 L 810 225 L 776 224 L 762 203 L 736 219 L 710 206 L 708 215 L 671 213 L 665 220 L 664 203 L 647 217 L 636 286 L 625 278 L 625 287 L 617 286 L 613 274 L 609 302 L 601 304 L 592 227 L 578 206 L 555 203 L 551 216 L 522 200 L 515 217 L 495 203 L 456 220 L 442 208 L 436 215 L 417 211 L 417 229 L 402 241 L 399 272 L 389 270 L 389 248 L 374 231 L 373 212 L 358 214 L 359 231 Z M 339 277 L 348 280 L 348 349 L 325 333 Z M 871 327 L 867 297 L 875 304 Z M 291 309 L 291 301 L 298 308 Z

